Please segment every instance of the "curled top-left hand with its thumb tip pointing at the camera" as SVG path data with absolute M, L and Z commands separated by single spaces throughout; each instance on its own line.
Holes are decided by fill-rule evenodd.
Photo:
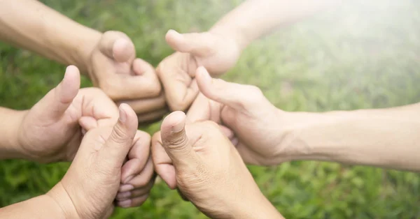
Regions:
M 155 68 L 136 58 L 134 44 L 125 33 L 103 33 L 86 66 L 94 86 L 118 103 L 130 105 L 139 122 L 156 121 L 167 113 Z

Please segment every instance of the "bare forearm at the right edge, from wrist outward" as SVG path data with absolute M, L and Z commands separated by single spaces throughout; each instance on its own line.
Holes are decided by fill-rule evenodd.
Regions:
M 420 105 L 288 114 L 281 148 L 292 160 L 420 171 Z

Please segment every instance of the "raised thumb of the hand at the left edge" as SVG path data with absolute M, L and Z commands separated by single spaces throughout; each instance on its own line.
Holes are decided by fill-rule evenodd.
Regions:
M 45 95 L 36 107 L 42 107 L 41 119 L 59 119 L 73 102 L 80 88 L 80 72 L 76 66 L 68 66 L 64 78 Z

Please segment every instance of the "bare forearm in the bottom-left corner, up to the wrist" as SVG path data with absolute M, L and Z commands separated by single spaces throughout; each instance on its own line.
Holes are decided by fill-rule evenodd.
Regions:
M 46 195 L 0 209 L 0 218 L 80 218 L 71 199 L 58 183 Z

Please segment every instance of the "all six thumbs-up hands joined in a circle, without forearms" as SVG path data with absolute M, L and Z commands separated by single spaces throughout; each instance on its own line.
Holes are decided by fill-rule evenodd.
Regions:
M 12 144 L 29 160 L 72 161 L 46 194 L 69 218 L 140 206 L 157 174 L 211 218 L 281 217 L 245 164 L 287 160 L 277 146 L 286 112 L 255 86 L 212 77 L 235 65 L 241 50 L 234 40 L 172 30 L 166 40 L 176 52 L 155 70 L 136 58 L 124 33 L 103 33 L 86 65 L 100 89 L 80 89 L 78 68 L 67 67 L 62 82 L 20 112 Z M 168 107 L 160 132 L 137 130 Z

